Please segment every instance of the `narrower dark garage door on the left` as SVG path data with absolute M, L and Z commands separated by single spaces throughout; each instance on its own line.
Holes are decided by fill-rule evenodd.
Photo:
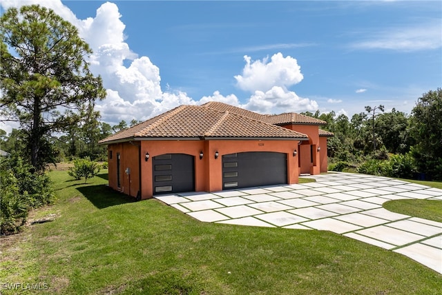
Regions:
M 195 191 L 195 161 L 189 154 L 154 156 L 153 193 Z

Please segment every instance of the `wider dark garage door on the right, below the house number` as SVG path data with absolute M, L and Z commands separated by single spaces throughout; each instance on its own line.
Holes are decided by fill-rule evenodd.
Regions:
M 287 183 L 287 154 L 241 152 L 222 156 L 224 190 Z

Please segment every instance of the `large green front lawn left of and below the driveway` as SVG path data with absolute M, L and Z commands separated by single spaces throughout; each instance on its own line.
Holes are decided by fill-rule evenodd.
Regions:
M 55 221 L 2 238 L 0 283 L 41 294 L 440 294 L 442 275 L 331 232 L 202 223 L 51 172 Z M 17 294 L 3 288 L 2 294 Z M 23 292 L 26 294 L 27 292 Z M 28 292 L 31 293 L 31 292 Z

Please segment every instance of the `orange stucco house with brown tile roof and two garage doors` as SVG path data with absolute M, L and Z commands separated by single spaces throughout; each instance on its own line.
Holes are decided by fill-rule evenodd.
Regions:
M 181 105 L 102 141 L 109 186 L 137 199 L 298 183 L 327 172 L 325 121 L 226 103 Z

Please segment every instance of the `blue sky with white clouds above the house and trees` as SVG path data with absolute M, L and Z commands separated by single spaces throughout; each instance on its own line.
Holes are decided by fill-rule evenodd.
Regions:
M 59 1 L 111 125 L 218 100 L 262 113 L 410 114 L 442 87 L 441 1 Z

